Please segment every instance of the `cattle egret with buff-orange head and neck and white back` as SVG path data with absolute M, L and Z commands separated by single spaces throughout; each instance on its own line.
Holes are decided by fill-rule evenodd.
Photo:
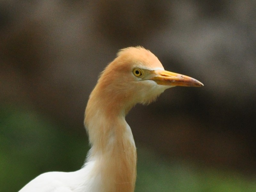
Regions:
M 137 154 L 125 115 L 137 103 L 156 100 L 174 86 L 201 87 L 196 79 L 165 71 L 143 47 L 120 50 L 101 73 L 85 109 L 91 149 L 75 172 L 47 172 L 20 192 L 133 192 Z

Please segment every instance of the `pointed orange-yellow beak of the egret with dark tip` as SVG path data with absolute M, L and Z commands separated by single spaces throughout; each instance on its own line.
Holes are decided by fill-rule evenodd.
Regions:
M 164 70 L 156 70 L 152 71 L 154 73 L 151 80 L 155 81 L 159 85 L 168 85 L 168 86 L 186 86 L 186 87 L 202 87 L 204 84 L 202 84 L 200 81 L 197 81 L 196 79 L 180 75 L 178 73 L 173 73 L 170 71 L 164 71 Z

